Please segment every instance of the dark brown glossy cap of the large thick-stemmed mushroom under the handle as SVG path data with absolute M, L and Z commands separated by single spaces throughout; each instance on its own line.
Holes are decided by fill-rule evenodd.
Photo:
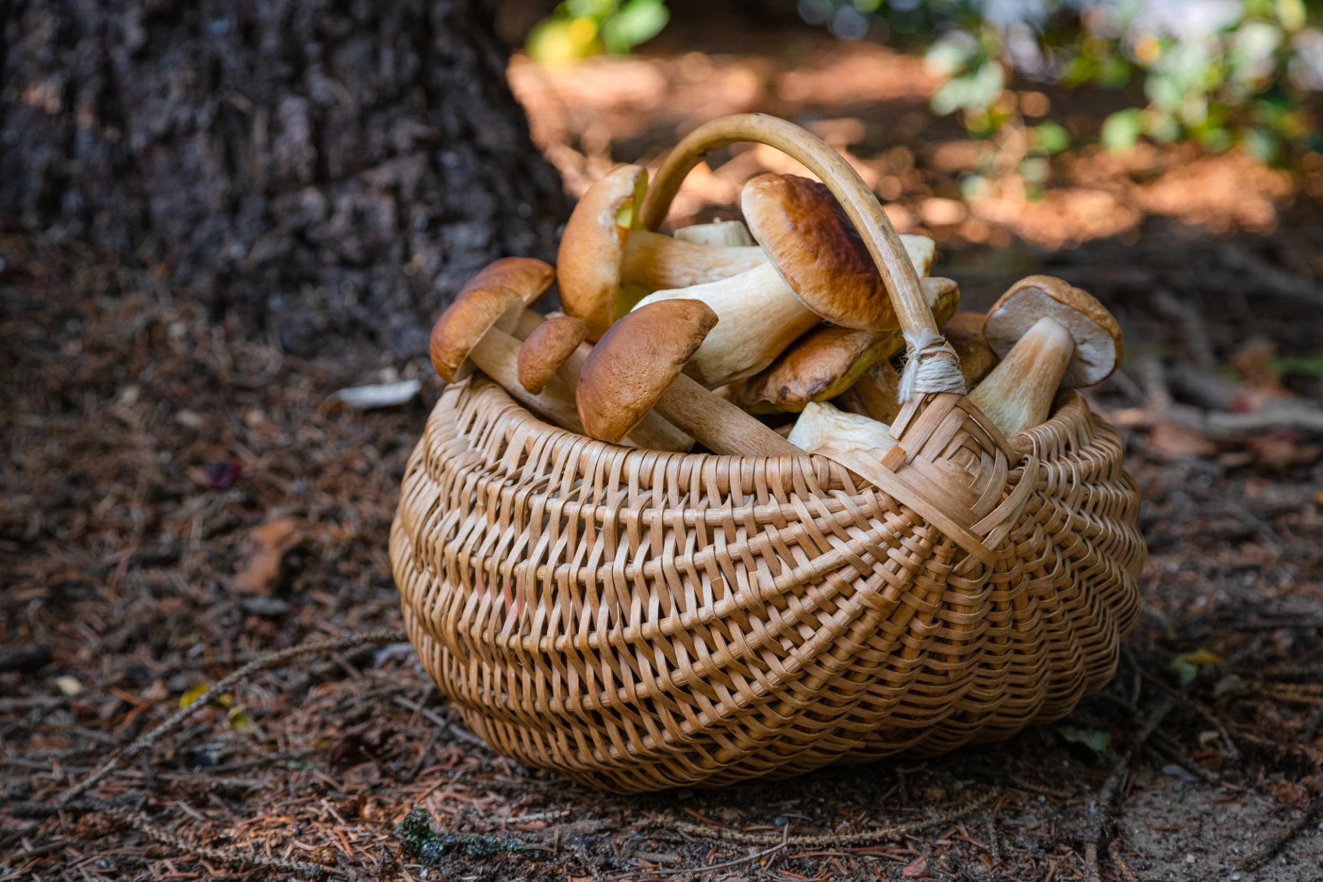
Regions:
M 897 327 L 872 255 L 826 185 L 759 175 L 740 201 L 753 237 L 806 307 L 845 328 Z

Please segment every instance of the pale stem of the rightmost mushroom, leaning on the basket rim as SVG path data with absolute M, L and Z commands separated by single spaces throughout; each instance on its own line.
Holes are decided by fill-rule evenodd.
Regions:
M 1070 332 L 1044 316 L 970 393 L 970 401 L 1007 438 L 1040 426 L 1048 419 L 1074 350 Z

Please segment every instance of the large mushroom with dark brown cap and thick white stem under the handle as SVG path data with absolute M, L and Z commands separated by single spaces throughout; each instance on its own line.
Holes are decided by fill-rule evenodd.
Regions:
M 759 175 L 745 184 L 741 204 L 770 263 L 639 301 L 696 299 L 720 316 L 685 373 L 709 389 L 755 374 L 820 319 L 865 331 L 898 327 L 872 257 L 823 184 Z

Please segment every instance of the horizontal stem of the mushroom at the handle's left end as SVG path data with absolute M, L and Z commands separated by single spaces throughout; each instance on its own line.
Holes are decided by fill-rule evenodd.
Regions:
M 684 288 L 725 279 L 766 262 L 767 255 L 757 245 L 697 245 L 651 230 L 630 230 L 620 283 L 648 291 Z

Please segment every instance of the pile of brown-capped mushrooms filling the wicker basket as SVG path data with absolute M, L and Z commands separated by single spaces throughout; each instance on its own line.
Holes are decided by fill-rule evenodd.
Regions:
M 622 165 L 565 225 L 558 267 L 505 258 L 442 313 L 431 360 L 474 368 L 538 417 L 640 448 L 741 456 L 885 450 L 896 442 L 900 321 L 872 257 L 828 189 L 795 175 L 744 185 L 744 221 L 665 235 L 638 213 L 647 172 Z M 1021 279 L 984 315 L 929 276 L 931 239 L 901 237 L 970 401 L 1009 438 L 1045 422 L 1062 387 L 1115 370 L 1121 329 L 1061 279 Z M 556 283 L 564 312 L 531 304 Z

